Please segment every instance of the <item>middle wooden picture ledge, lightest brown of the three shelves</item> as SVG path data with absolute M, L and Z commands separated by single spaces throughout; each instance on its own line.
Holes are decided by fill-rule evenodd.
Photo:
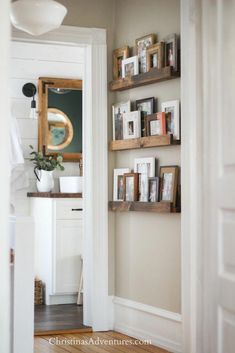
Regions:
M 163 147 L 180 145 L 180 141 L 173 140 L 172 135 L 158 135 L 140 137 L 131 140 L 116 140 L 109 143 L 110 151 L 123 151 L 138 148 Z

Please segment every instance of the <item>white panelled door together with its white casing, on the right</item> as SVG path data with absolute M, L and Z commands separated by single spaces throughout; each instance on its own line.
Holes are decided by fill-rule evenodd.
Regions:
M 235 351 L 235 4 L 182 0 L 185 353 Z

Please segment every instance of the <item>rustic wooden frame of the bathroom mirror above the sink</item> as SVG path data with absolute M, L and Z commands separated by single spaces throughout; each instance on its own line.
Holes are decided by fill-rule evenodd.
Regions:
M 40 77 L 38 79 L 38 102 L 39 102 L 39 118 L 38 118 L 38 150 L 44 155 L 57 155 L 63 157 L 64 162 L 77 162 L 82 158 L 82 153 L 64 153 L 48 151 L 48 89 L 62 88 L 62 89 L 77 89 L 82 90 L 82 80 L 64 79 L 54 77 Z

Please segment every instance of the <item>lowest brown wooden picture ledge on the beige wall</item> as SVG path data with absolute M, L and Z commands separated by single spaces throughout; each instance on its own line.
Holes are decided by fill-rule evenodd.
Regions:
M 180 208 L 173 207 L 170 202 L 126 202 L 109 201 L 109 211 L 115 212 L 155 212 L 155 213 L 180 213 Z

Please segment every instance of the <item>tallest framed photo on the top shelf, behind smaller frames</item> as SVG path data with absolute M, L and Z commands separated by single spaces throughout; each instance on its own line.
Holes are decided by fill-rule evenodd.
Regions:
M 156 35 L 151 33 L 135 40 L 136 54 L 139 58 L 140 73 L 147 72 L 146 50 L 156 42 Z

